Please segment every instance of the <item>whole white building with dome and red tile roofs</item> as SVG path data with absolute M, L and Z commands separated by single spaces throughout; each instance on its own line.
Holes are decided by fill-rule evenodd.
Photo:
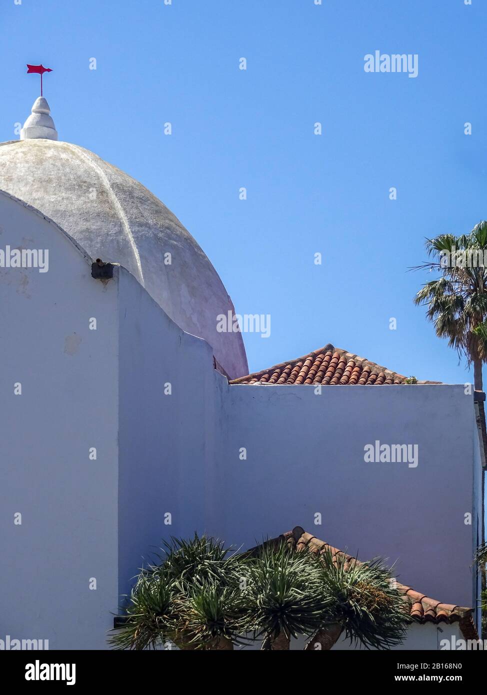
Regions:
M 58 142 L 45 99 L 36 114 L 0 145 L 0 639 L 106 648 L 163 537 L 248 548 L 295 523 L 397 559 L 423 611 L 406 648 L 474 635 L 484 394 L 404 384 L 332 345 L 246 376 L 241 334 L 216 329 L 233 304 L 188 231 Z M 366 459 L 376 442 L 406 459 Z

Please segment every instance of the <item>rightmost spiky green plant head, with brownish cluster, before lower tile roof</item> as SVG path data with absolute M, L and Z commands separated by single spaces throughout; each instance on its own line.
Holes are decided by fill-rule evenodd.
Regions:
M 329 603 L 306 650 L 329 650 L 342 632 L 366 648 L 401 644 L 411 622 L 408 606 L 381 559 L 362 563 L 329 546 L 315 557 Z

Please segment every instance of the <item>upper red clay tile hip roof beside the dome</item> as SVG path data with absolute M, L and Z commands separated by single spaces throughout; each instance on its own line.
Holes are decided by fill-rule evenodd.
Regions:
M 392 372 L 365 357 L 333 347 L 331 343 L 320 350 L 297 357 L 290 362 L 276 364 L 269 369 L 233 379 L 230 384 L 322 384 L 337 386 L 366 384 L 404 384 L 402 374 Z M 438 384 L 439 382 L 418 382 L 418 384 Z

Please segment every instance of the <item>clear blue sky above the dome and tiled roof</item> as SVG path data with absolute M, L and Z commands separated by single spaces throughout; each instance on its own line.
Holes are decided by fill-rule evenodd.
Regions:
M 237 311 L 271 315 L 251 370 L 333 343 L 463 383 L 412 302 L 431 275 L 407 269 L 487 218 L 486 29 L 483 0 L 2 0 L 0 140 L 38 96 L 25 64 L 53 68 L 60 140 L 142 181 Z M 418 77 L 365 73 L 376 49 L 418 54 Z

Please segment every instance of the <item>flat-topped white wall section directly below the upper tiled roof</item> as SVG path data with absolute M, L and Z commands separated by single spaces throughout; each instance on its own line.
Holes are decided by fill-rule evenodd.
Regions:
M 473 397 L 463 386 L 229 386 L 222 530 L 244 546 L 302 526 L 397 579 L 472 605 Z M 475 432 L 475 436 L 477 433 Z M 418 445 L 418 467 L 365 463 L 364 445 Z M 240 448 L 247 460 L 239 460 Z M 322 515 L 315 525 L 315 514 Z

